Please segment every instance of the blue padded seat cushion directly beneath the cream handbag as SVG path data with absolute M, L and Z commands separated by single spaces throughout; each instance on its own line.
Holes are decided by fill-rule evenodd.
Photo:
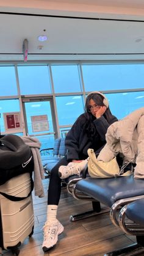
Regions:
M 112 207 L 118 200 L 142 196 L 144 182 L 142 179 L 135 179 L 133 175 L 119 178 L 85 178 L 76 183 L 76 189 Z

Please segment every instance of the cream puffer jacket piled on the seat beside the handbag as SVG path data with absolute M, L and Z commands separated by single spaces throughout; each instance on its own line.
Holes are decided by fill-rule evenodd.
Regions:
M 144 178 L 144 108 L 137 109 L 110 125 L 106 141 L 98 160 L 108 162 L 118 153 L 122 153 L 124 163 L 137 164 L 134 177 Z

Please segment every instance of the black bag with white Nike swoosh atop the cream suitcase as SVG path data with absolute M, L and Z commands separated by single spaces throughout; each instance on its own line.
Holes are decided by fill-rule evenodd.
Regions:
M 31 148 L 21 137 L 8 134 L 0 139 L 0 185 L 10 178 L 34 170 Z

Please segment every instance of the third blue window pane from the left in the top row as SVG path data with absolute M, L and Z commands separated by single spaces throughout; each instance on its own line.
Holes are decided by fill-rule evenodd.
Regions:
M 81 92 L 77 65 L 54 65 L 51 68 L 56 93 Z

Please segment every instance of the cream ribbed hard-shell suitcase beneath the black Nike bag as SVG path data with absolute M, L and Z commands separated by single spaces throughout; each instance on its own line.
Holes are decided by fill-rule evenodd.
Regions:
M 31 178 L 29 173 L 11 178 L 0 186 L 0 191 L 6 194 L 26 197 L 31 191 Z M 13 202 L 0 195 L 2 249 L 12 249 L 20 246 L 27 236 L 34 230 L 34 210 L 32 195 L 26 199 Z

